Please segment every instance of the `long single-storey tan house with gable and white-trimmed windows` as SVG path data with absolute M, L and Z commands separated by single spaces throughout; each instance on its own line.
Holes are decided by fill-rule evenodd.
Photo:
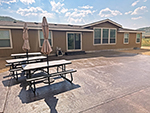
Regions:
M 24 22 L 0 21 L 0 56 L 22 53 Z M 29 52 L 39 52 L 43 42 L 41 23 L 27 22 Z M 99 51 L 105 49 L 127 49 L 141 47 L 142 31 L 124 29 L 109 19 L 82 26 L 49 24 L 49 41 L 63 52 Z

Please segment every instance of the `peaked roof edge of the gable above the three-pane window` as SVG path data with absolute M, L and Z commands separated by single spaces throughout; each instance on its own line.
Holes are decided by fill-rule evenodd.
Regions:
M 86 24 L 86 25 L 83 25 L 82 27 L 83 28 L 86 28 L 86 27 L 90 27 L 90 26 L 94 26 L 94 25 L 97 25 L 97 24 L 101 24 L 101 23 L 104 23 L 104 22 L 110 22 L 118 27 L 122 27 L 122 25 L 110 20 L 110 19 L 105 19 L 105 20 L 101 20 L 101 21 L 98 21 L 98 22 L 94 22 L 94 23 L 90 23 L 90 24 Z

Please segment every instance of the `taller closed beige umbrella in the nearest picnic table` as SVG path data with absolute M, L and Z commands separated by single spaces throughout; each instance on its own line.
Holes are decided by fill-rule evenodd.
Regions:
M 47 55 L 47 64 L 48 64 L 48 54 L 50 54 L 52 52 L 52 48 L 51 48 L 51 46 L 49 44 L 49 41 L 48 41 L 49 27 L 48 27 L 46 17 L 43 17 L 42 31 L 43 31 L 43 36 L 44 36 L 44 42 L 43 42 L 43 45 L 42 45 L 41 52 L 43 54 Z

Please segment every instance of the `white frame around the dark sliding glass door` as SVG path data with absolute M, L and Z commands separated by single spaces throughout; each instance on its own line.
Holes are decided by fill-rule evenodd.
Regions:
M 80 34 L 80 46 L 81 46 L 81 49 L 72 49 L 72 50 L 68 50 L 68 33 L 77 33 L 77 34 Z M 67 51 L 81 51 L 82 50 L 82 32 L 66 32 L 66 49 Z

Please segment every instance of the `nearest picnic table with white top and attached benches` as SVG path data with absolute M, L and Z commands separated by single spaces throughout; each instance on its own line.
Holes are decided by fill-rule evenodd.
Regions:
M 48 79 L 48 83 L 50 84 L 51 77 L 54 76 L 61 76 L 63 79 L 69 81 L 72 83 L 73 81 L 73 76 L 72 73 L 76 72 L 77 70 L 71 69 L 71 70 L 66 70 L 66 65 L 71 64 L 71 61 L 67 60 L 56 60 L 56 61 L 49 61 L 48 64 L 47 62 L 40 62 L 40 63 L 33 63 L 33 64 L 27 64 L 23 70 L 27 72 L 26 75 L 26 81 L 28 82 L 29 88 L 32 89 L 32 91 L 35 93 L 36 91 L 36 81 L 38 80 L 45 80 Z M 49 68 L 51 67 L 57 67 L 57 71 L 55 73 L 49 73 Z M 47 69 L 47 71 L 44 71 L 43 69 Z M 61 69 L 61 71 L 59 71 Z M 32 76 L 36 75 L 34 74 L 36 71 L 42 70 L 44 73 L 41 74 L 41 76 Z M 31 73 L 33 71 L 33 73 Z M 66 74 L 70 74 L 70 78 L 68 79 L 66 77 Z

